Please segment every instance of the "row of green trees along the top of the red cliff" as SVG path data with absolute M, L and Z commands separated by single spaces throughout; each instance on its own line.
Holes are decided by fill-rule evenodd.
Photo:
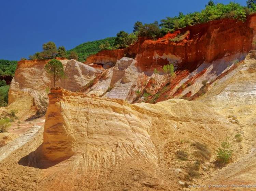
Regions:
M 247 15 L 256 12 L 256 0 L 247 0 L 246 3 L 247 6 L 242 6 L 235 2 L 224 5 L 223 3 L 215 4 L 210 0 L 201 12 L 188 13 L 186 15 L 180 12 L 178 16 L 162 19 L 160 24 L 158 21 L 150 24 L 143 24 L 137 21 L 134 23 L 132 33 L 120 31 L 116 34 L 113 46 L 106 42 L 100 45 L 100 49 L 126 48 L 133 44 L 140 36 L 155 40 L 168 32 L 172 33 L 177 29 L 206 23 L 210 20 L 233 18 L 244 22 Z

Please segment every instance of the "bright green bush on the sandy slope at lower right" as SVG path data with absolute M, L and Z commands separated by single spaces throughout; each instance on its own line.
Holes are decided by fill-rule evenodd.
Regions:
M 221 164 L 227 164 L 231 161 L 232 150 L 230 149 L 229 137 L 221 143 L 221 147 L 218 148 L 216 161 Z

